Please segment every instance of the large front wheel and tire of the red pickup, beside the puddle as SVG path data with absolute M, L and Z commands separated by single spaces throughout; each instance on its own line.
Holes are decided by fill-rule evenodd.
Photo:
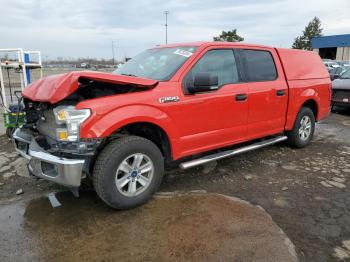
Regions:
M 159 148 L 145 138 L 127 136 L 112 141 L 102 150 L 92 178 L 97 195 L 107 205 L 130 209 L 153 196 L 163 175 L 164 159 Z

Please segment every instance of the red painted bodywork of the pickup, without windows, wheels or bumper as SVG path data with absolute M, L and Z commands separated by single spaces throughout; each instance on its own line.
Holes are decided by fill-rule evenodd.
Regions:
M 153 123 L 168 135 L 174 159 L 290 130 L 300 107 L 310 100 L 317 105 L 317 120 L 329 113 L 331 81 L 321 59 L 313 52 L 220 42 L 171 46 L 185 45 L 196 45 L 198 49 L 167 82 L 73 72 L 39 80 L 23 95 L 32 100 L 56 103 L 77 89 L 79 77 L 152 86 L 153 89 L 144 92 L 80 102 L 77 108 L 90 108 L 93 112 L 82 124 L 80 135 L 82 138 L 106 137 L 130 123 Z M 278 78 L 268 82 L 229 84 L 215 92 L 185 95 L 182 80 L 186 73 L 208 50 L 217 48 L 270 51 Z M 277 90 L 284 90 L 285 95 L 276 96 Z M 235 101 L 235 95 L 241 93 L 246 93 L 248 99 Z M 159 98 L 169 96 L 178 96 L 180 100 L 159 102 Z

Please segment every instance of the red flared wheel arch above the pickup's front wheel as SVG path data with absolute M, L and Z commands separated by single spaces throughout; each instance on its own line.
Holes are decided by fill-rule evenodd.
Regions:
M 137 122 L 147 122 L 162 128 L 169 138 L 173 156 L 178 154 L 179 134 L 174 121 L 162 110 L 149 105 L 123 106 L 105 115 L 94 113 L 81 125 L 80 137 L 108 137 L 119 128 Z

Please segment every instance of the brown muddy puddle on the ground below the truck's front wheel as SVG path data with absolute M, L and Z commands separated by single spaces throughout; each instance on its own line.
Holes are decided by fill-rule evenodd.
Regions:
M 57 198 L 57 208 L 0 205 L 1 261 L 297 261 L 269 215 L 224 196 L 160 196 L 128 211 L 92 192 Z

